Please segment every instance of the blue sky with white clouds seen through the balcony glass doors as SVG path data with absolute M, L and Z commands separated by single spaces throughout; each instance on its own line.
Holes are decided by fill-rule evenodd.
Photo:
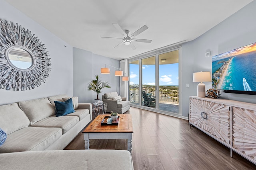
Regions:
M 178 85 L 179 78 L 178 63 L 160 64 L 159 65 L 159 85 Z M 139 65 L 130 64 L 130 85 L 139 84 Z M 156 82 L 156 66 L 142 65 L 142 84 L 155 85 Z

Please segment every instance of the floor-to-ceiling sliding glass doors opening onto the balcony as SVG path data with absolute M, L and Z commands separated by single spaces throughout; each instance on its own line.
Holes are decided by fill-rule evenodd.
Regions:
M 176 48 L 128 60 L 132 105 L 180 114 L 179 53 Z

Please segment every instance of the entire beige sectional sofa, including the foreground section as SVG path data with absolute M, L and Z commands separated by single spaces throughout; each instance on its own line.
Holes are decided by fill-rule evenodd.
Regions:
M 92 120 L 92 105 L 76 103 L 74 113 L 56 117 L 50 96 L 0 106 L 0 129 L 6 141 L 0 146 L 4 170 L 133 170 L 128 150 L 62 150 Z M 72 98 L 73 99 L 73 98 Z

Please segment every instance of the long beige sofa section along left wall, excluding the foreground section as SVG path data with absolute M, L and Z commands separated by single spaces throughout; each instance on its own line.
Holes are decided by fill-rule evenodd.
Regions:
M 51 96 L 0 106 L 0 128 L 7 139 L 0 153 L 32 150 L 62 150 L 92 120 L 92 105 L 78 104 L 74 113 L 56 117 Z

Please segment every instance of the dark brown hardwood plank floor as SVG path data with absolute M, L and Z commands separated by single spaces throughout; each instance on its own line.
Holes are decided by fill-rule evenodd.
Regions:
M 131 107 L 134 170 L 256 170 L 256 165 L 188 121 Z M 127 149 L 127 140 L 90 140 L 90 149 Z M 65 149 L 84 149 L 82 133 Z M 107 156 L 107 155 L 106 155 Z

